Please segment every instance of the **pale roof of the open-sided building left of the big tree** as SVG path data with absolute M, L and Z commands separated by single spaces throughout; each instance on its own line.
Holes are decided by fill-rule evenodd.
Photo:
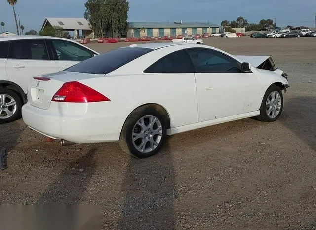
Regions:
M 49 22 L 52 26 L 60 26 L 65 30 L 91 30 L 89 22 L 85 18 L 46 18 L 41 30 Z

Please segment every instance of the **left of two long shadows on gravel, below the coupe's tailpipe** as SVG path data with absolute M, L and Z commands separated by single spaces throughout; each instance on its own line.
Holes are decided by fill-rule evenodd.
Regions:
M 37 200 L 33 225 L 38 229 L 101 229 L 101 208 L 79 205 L 96 172 L 96 151 L 90 149 L 71 162 Z

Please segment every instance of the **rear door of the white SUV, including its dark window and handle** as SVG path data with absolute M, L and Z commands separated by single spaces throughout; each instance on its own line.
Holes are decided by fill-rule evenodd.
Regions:
M 10 41 L 6 73 L 9 81 L 18 84 L 25 93 L 31 77 L 57 71 L 44 39 Z

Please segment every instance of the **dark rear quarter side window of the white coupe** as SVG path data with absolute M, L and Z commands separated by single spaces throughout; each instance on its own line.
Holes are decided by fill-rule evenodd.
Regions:
M 183 50 L 170 53 L 150 67 L 145 73 L 193 73 L 192 64 Z

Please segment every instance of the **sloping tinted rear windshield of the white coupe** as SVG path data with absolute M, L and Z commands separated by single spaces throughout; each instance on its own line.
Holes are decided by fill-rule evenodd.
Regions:
M 153 49 L 140 47 L 114 49 L 79 62 L 65 71 L 88 74 L 107 74 L 150 51 L 153 51 Z

